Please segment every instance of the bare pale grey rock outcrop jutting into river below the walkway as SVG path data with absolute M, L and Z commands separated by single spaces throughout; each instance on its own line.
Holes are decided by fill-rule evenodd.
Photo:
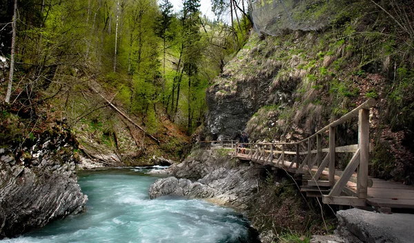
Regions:
M 175 177 L 158 179 L 149 188 L 150 198 L 180 195 L 206 198 L 217 204 L 244 209 L 257 190 L 259 171 L 247 164 L 232 164 L 215 159 L 211 150 L 200 151 L 184 162 L 168 168 Z M 203 159 L 204 158 L 204 159 Z M 176 177 L 187 178 L 177 179 Z M 196 182 L 190 179 L 197 180 Z

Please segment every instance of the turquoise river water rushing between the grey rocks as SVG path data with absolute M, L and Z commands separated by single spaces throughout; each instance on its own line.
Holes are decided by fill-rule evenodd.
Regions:
M 87 211 L 6 242 L 257 242 L 250 223 L 230 208 L 183 197 L 148 198 L 159 177 L 148 167 L 79 174 Z

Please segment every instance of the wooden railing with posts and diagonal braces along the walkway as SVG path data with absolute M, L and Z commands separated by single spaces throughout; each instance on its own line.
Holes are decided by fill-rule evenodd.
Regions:
M 364 206 L 368 193 L 368 159 L 369 143 L 369 110 L 375 106 L 375 99 L 368 99 L 351 112 L 331 122 L 315 134 L 292 143 L 248 143 L 231 144 L 233 156 L 249 159 L 264 164 L 275 164 L 295 173 L 310 173 L 312 181 L 320 182 L 324 171 L 328 171 L 328 181 L 320 182 L 331 186 L 328 195 L 324 195 L 326 204 L 344 204 Z M 358 117 L 358 142 L 347 146 L 335 146 L 336 127 Z M 325 137 L 325 139 L 324 139 Z M 326 144 L 324 148 L 323 144 Z M 242 146 L 243 145 L 243 146 Z M 245 147 L 245 148 L 243 148 Z M 302 150 L 301 150 L 302 148 Z M 307 148 L 303 150 L 303 148 Z M 344 171 L 335 170 L 336 153 L 353 153 Z M 339 197 L 344 187 L 357 170 L 356 197 Z M 335 180 L 335 175 L 339 179 Z

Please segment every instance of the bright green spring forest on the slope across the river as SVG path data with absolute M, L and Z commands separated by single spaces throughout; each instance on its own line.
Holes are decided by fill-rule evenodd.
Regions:
M 150 134 L 161 117 L 193 133 L 206 112 L 206 88 L 250 28 L 246 15 L 235 12 L 234 28 L 201 16 L 199 7 L 198 0 L 184 1 L 179 12 L 168 0 L 2 0 L 3 118 L 11 110 L 26 124 L 3 123 L 10 133 L 1 139 L 33 137 L 53 119 L 108 123 L 94 92 Z M 224 12 L 228 3 L 215 8 Z

